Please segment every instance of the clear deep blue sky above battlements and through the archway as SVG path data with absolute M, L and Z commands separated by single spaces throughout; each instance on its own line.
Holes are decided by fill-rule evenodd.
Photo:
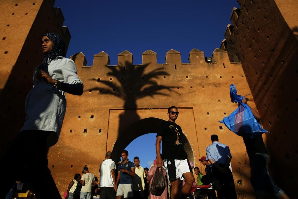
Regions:
M 170 49 L 178 50 L 184 63 L 193 48 L 209 57 L 220 47 L 232 9 L 239 4 L 237 0 L 56 0 L 54 6 L 61 8 L 72 36 L 67 57 L 83 52 L 87 65 L 92 65 L 93 55 L 105 51 L 110 64 L 116 65 L 123 50 L 133 54 L 134 64 L 142 64 L 142 53 L 149 49 L 157 53 L 158 63 L 165 63 Z M 146 134 L 131 142 L 129 159 L 138 156 L 140 164 L 149 167 L 156 156 L 155 136 Z

